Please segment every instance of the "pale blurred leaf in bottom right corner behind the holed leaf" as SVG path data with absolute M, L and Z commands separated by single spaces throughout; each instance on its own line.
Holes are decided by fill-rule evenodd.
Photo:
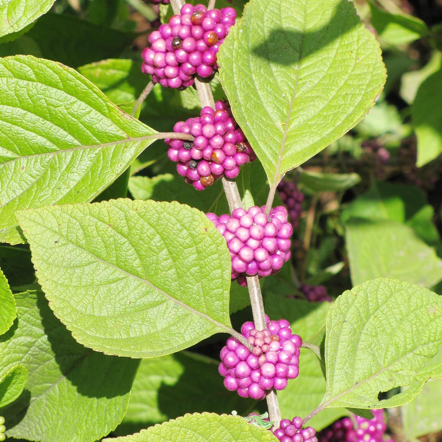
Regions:
M 442 349 L 434 356 L 442 362 Z M 417 438 L 442 429 L 439 404 L 442 395 L 442 381 L 427 382 L 418 396 L 401 407 L 402 423 L 407 439 Z

